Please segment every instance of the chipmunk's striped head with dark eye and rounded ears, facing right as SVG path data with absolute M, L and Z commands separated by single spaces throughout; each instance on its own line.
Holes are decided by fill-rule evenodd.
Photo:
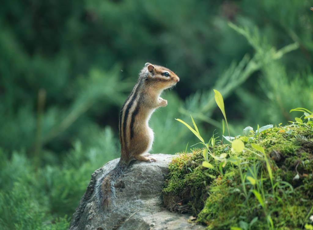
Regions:
M 156 89 L 167 89 L 179 82 L 179 77 L 170 69 L 160 65 L 146 63 L 140 74 L 146 84 L 152 85 Z

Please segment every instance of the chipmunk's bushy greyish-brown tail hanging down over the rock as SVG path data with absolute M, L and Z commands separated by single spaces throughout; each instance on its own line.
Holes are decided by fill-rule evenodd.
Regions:
M 102 210 L 108 210 L 115 198 L 115 181 L 126 171 L 128 164 L 125 161 L 119 161 L 115 168 L 108 174 L 103 175 L 96 184 L 97 200 Z

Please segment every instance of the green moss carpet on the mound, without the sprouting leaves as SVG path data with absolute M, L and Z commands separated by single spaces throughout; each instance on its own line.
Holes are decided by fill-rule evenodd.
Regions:
M 246 163 L 241 164 L 243 176 L 257 174 L 259 187 L 245 180 L 244 193 L 240 170 L 227 161 L 223 173 L 202 166 L 201 149 L 190 154 L 179 154 L 169 165 L 169 174 L 163 189 L 164 205 L 176 212 L 189 213 L 207 229 L 229 229 L 249 223 L 257 217 L 250 229 L 268 229 L 266 215 L 270 215 L 275 229 L 301 229 L 313 204 L 313 141 L 312 132 L 291 126 L 272 128 L 260 137 L 256 136 L 245 147 L 251 149 L 251 142 L 264 146 L 273 173 L 270 183 L 263 157 L 251 151 L 234 154 L 229 145 L 219 145 L 215 156 L 226 153 L 235 155 Z M 251 136 L 254 137 L 254 136 Z M 213 151 L 213 150 L 212 150 Z M 219 162 L 209 157 L 209 162 L 218 168 Z M 260 182 L 261 177 L 263 182 Z M 258 190 L 264 201 L 264 208 L 252 190 Z

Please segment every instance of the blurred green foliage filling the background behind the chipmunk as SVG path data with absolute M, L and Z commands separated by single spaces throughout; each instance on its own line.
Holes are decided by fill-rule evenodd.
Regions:
M 174 118 L 220 132 L 213 87 L 231 134 L 312 109 L 309 3 L 3 1 L 0 226 L 67 229 L 90 174 L 119 156 L 119 110 L 148 61 L 181 79 L 151 118 L 155 153 L 192 141 Z

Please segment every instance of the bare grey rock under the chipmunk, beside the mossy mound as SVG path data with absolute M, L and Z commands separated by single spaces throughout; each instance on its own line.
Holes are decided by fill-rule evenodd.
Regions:
M 204 229 L 187 222 L 188 216 L 170 212 L 162 206 L 162 186 L 172 155 L 153 154 L 157 162 L 133 161 L 115 182 L 115 205 L 103 212 L 98 207 L 95 184 L 100 176 L 112 170 L 119 159 L 96 170 L 76 212 L 69 230 L 184 230 Z

